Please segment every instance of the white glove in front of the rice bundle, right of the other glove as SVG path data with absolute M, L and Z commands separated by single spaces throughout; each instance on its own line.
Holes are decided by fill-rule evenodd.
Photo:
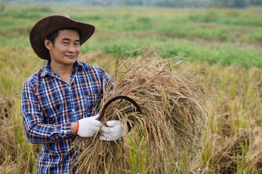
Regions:
M 108 127 L 101 127 L 101 135 L 99 140 L 114 141 L 123 136 L 123 123 L 119 120 L 111 120 L 106 122 Z

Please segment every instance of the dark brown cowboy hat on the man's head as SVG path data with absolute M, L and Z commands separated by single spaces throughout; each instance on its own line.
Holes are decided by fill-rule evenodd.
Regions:
M 79 32 L 80 45 L 94 33 L 93 25 L 74 21 L 64 12 L 43 18 L 34 25 L 30 32 L 30 43 L 37 56 L 46 60 L 50 59 L 49 51 L 44 43 L 46 36 L 57 30 L 67 28 L 74 28 Z

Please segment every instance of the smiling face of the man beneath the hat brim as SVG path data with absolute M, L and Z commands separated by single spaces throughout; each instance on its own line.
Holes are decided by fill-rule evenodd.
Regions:
M 51 62 L 65 66 L 73 65 L 80 52 L 79 33 L 77 30 L 60 30 L 54 44 L 49 42 L 46 47 L 50 52 Z

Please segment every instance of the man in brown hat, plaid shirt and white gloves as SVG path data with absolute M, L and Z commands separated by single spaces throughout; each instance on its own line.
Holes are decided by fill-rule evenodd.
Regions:
M 48 60 L 26 80 L 21 95 L 26 137 L 42 144 L 38 173 L 74 173 L 70 146 L 77 135 L 88 138 L 101 130 L 100 140 L 122 136 L 120 121 L 105 127 L 96 120 L 103 87 L 112 86 L 110 77 L 100 67 L 77 61 L 80 46 L 93 33 L 93 25 L 73 21 L 66 13 L 41 19 L 30 32 L 32 49 Z

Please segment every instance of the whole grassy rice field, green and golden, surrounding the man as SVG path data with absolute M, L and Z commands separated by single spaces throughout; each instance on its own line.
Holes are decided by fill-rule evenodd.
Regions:
M 23 133 L 24 81 L 44 61 L 28 34 L 42 17 L 67 12 L 97 30 L 80 60 L 107 68 L 133 47 L 151 43 L 164 58 L 189 58 L 174 69 L 197 72 L 214 100 L 201 150 L 175 162 L 174 173 L 262 173 L 262 8 L 173 9 L 0 3 L 0 173 L 36 173 L 38 145 Z M 132 56 L 139 55 L 134 52 Z M 111 69 L 108 69 L 110 74 Z M 148 173 L 139 144 L 130 173 Z

